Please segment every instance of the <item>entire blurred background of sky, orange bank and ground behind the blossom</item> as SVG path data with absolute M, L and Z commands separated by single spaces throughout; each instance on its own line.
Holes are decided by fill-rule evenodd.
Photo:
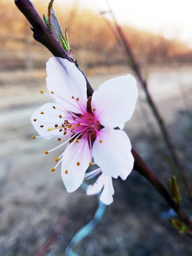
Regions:
M 144 3 L 143 3 L 144 2 Z M 109 1 L 149 82 L 149 91 L 191 174 L 192 21 L 191 1 Z M 41 17 L 48 1 L 33 1 Z M 105 80 L 132 73 L 114 36 L 106 1 L 56 1 L 54 9 L 80 68 L 96 90 Z M 33 40 L 28 21 L 14 1 L 0 1 L 0 255 L 35 255 L 53 238 L 48 256 L 63 255 L 73 235 L 97 209 L 96 196 L 79 189 L 67 193 L 55 173 L 58 152 L 45 155 L 56 140 L 32 140 L 30 122 L 36 108 L 49 102 L 46 61 L 51 54 Z M 139 85 L 138 85 L 139 86 Z M 166 185 L 174 174 L 144 92 L 125 132 L 132 145 Z M 137 172 L 127 181 L 114 181 L 114 203 L 100 225 L 76 247 L 80 255 L 191 255 L 191 238 L 179 234 L 167 218 L 174 215 L 163 198 Z M 182 206 L 191 213 L 186 191 Z M 60 223 L 61 220 L 61 223 Z M 54 233 L 55 232 L 55 233 Z M 58 232 L 58 235 L 55 235 Z M 38 254 L 39 256 L 40 254 Z M 37 256 L 37 255 L 36 255 Z

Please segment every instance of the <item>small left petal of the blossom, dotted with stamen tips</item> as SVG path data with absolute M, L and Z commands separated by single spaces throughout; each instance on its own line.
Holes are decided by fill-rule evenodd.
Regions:
M 55 107 L 55 109 L 53 107 Z M 41 114 L 41 112 L 43 112 L 43 114 Z M 50 139 L 51 137 L 62 138 L 63 132 L 59 132 L 59 129 L 55 129 L 55 124 L 58 124 L 59 127 L 63 123 L 63 119 L 59 117 L 60 114 L 63 115 L 63 112 L 58 110 L 57 105 L 46 103 L 32 114 L 31 122 L 38 134 L 45 137 L 45 139 Z M 43 127 L 41 127 L 41 125 L 43 125 Z M 48 132 L 48 129 L 53 130 Z

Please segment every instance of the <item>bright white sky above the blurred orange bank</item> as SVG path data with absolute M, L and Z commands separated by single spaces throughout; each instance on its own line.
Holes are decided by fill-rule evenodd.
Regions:
M 107 1 L 117 21 L 188 43 L 192 47 L 192 0 L 55 0 L 78 4 L 96 13 L 107 11 Z

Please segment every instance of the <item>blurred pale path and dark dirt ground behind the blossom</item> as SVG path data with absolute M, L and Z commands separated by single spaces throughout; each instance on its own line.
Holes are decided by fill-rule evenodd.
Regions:
M 192 177 L 192 72 L 191 67 L 151 68 L 149 89 L 165 119 L 178 155 Z M 106 75 L 107 73 L 107 75 Z M 95 89 L 105 80 L 129 73 L 127 67 L 87 70 Z M 54 139 L 33 140 L 30 122 L 37 107 L 49 100 L 45 70 L 12 70 L 0 73 L 0 255 L 30 256 L 55 235 L 48 256 L 64 255 L 73 235 L 91 220 L 96 196 L 78 189 L 67 193 L 60 169 L 50 171 L 58 152 L 45 155 Z M 139 89 L 137 110 L 125 127 L 132 145 L 165 184 L 171 164 L 159 128 Z M 56 155 L 57 154 L 57 155 Z M 167 221 L 174 214 L 142 176 L 132 171 L 127 181 L 114 181 L 114 203 L 100 224 L 75 248 L 79 255 L 184 256 L 192 255 L 191 238 L 179 234 Z M 183 207 L 191 213 L 183 193 Z

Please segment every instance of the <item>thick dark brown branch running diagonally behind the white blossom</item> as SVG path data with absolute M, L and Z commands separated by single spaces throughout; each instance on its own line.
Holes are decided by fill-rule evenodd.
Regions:
M 40 16 L 38 16 L 38 13 L 34 9 L 31 2 L 29 0 L 15 0 L 15 2 L 18 9 L 23 13 L 24 16 L 26 16 L 28 21 L 33 26 L 33 31 L 36 35 L 34 36 L 34 38 L 40 43 L 43 43 L 43 45 L 46 46 L 51 53 L 55 53 L 53 55 L 55 55 L 56 57 L 68 59 L 68 57 L 66 57 L 66 53 L 63 50 L 63 48 L 60 48 L 58 41 L 55 41 L 55 38 L 53 38 L 53 34 L 50 33 L 50 31 L 48 31 L 48 28 L 43 24 L 43 21 L 41 20 Z M 46 37 L 46 39 L 44 37 Z M 87 80 L 86 77 L 85 79 Z M 87 96 L 90 97 L 92 93 L 93 93 L 93 89 L 90 86 L 89 82 L 87 82 Z M 134 169 L 138 171 L 139 174 L 144 176 L 156 188 L 156 190 L 159 191 L 161 196 L 163 196 L 164 199 L 167 201 L 167 203 L 169 203 L 169 206 L 173 208 L 176 211 L 176 213 L 178 213 L 183 223 L 186 223 L 188 228 L 192 230 L 192 222 L 188 217 L 188 215 L 181 209 L 181 206 L 178 206 L 178 204 L 176 204 L 172 200 L 169 192 L 166 190 L 164 185 L 159 181 L 159 179 L 156 178 L 156 176 L 154 176 L 154 174 L 149 169 L 149 167 L 146 166 L 145 162 L 142 160 L 141 156 L 139 156 L 137 151 L 132 149 L 132 154 L 135 160 Z M 54 239 L 55 239 L 55 235 L 54 235 Z M 50 242 L 48 242 L 48 245 L 45 245 L 45 246 L 51 245 L 52 244 L 51 241 L 52 241 L 52 238 L 50 238 Z M 42 255 L 42 254 L 39 254 L 39 255 Z

